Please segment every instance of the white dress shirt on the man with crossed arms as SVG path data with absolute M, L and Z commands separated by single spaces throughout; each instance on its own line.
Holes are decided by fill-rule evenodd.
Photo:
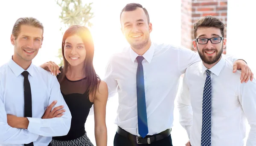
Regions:
M 24 116 L 24 71 L 12 59 L 0 67 L 0 146 L 24 146 L 34 142 L 34 146 L 47 146 L 52 136 L 67 135 L 71 124 L 71 114 L 60 91 L 55 76 L 33 64 L 29 72 L 29 83 L 32 94 L 32 117 L 28 129 L 12 128 L 7 123 L 7 114 Z M 41 119 L 54 100 L 55 106 L 64 105 L 66 112 L 62 117 Z M 54 108 L 54 107 L 53 107 Z

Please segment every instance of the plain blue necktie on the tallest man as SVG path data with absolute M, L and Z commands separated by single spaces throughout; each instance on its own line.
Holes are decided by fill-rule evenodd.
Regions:
M 138 56 L 137 58 L 137 111 L 138 111 L 138 127 L 139 134 L 141 137 L 145 137 L 148 134 L 148 120 L 147 120 L 147 109 L 145 99 L 145 88 L 144 88 L 144 74 L 142 60 L 144 57 Z

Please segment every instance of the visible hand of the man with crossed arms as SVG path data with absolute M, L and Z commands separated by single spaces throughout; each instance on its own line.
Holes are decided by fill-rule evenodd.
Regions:
M 55 106 L 56 103 L 57 101 L 55 100 L 50 104 L 50 106 L 47 107 L 42 119 L 50 119 L 53 117 L 61 117 L 62 115 L 64 115 L 63 112 L 66 111 L 65 109 L 63 109 L 64 106 L 57 106 L 52 110 L 53 106 Z

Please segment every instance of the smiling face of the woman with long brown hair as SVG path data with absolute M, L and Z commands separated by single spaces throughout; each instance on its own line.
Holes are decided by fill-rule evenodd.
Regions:
M 64 44 L 64 57 L 71 66 L 83 66 L 86 57 L 84 42 L 78 35 L 67 37 Z

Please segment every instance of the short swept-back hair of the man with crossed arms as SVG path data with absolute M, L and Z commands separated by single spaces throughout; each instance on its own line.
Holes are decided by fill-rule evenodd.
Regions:
M 43 30 L 43 34 L 44 34 L 44 26 L 39 20 L 33 17 L 21 17 L 18 20 L 16 20 L 12 28 L 12 35 L 15 37 L 15 40 L 17 39 L 17 36 L 20 34 L 20 26 L 22 25 L 34 26 L 34 27 L 40 28 Z M 44 39 L 43 34 L 42 34 L 42 40 Z

